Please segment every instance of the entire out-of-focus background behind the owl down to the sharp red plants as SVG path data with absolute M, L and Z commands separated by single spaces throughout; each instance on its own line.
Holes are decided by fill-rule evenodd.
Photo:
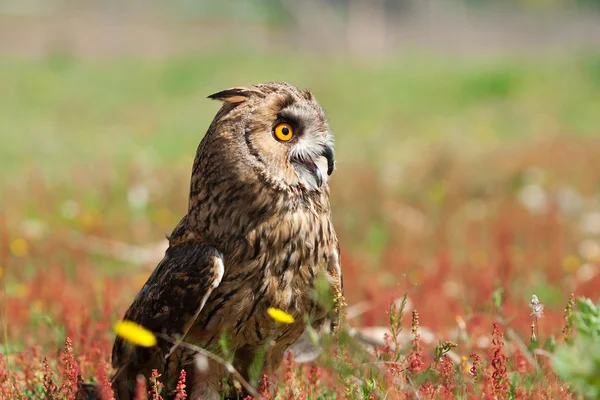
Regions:
M 597 0 L 4 0 L 9 334 L 120 317 L 186 212 L 206 96 L 275 80 L 336 135 L 353 323 L 408 292 L 436 335 L 500 313 L 528 337 L 536 294 L 551 335 L 570 293 L 597 296 Z

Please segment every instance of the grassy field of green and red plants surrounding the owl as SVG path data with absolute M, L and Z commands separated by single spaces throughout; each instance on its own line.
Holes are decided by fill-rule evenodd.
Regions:
M 600 285 L 598 56 L 57 53 L 0 76 L 2 398 L 110 375 L 112 325 L 186 212 L 206 96 L 271 80 L 310 88 L 336 135 L 349 328 L 262 395 L 599 395 L 600 332 L 581 332 L 598 310 L 575 304 Z

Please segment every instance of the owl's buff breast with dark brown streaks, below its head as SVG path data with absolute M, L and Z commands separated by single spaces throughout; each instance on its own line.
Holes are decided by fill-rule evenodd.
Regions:
M 225 276 L 215 290 L 208 311 L 199 318 L 206 332 L 226 329 L 234 345 L 259 345 L 267 338 L 293 343 L 308 320 L 325 310 L 316 301 L 320 277 L 332 281 L 337 239 L 327 216 L 294 215 L 259 226 L 247 235 L 240 258 L 226 257 Z M 293 324 L 276 323 L 270 307 L 294 317 Z

